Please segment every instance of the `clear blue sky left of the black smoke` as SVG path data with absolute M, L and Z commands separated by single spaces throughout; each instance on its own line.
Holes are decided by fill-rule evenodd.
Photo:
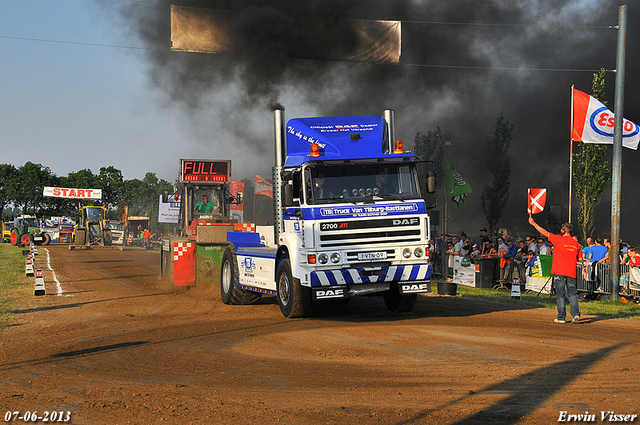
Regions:
M 180 114 L 147 83 L 141 51 L 105 47 L 141 46 L 119 19 L 91 0 L 0 0 L 0 163 L 173 181 L 181 157 L 199 156 L 171 149 Z

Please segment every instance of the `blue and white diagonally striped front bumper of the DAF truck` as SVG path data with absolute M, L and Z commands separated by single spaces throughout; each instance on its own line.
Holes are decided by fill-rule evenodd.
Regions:
M 309 277 L 312 287 L 379 282 L 398 282 L 399 285 L 409 282 L 417 284 L 417 281 L 431 279 L 431 266 L 429 264 L 417 264 L 374 269 L 320 270 L 311 272 Z

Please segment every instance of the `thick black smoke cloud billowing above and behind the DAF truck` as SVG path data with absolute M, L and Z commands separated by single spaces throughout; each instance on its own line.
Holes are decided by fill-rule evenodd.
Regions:
M 570 87 L 591 92 L 595 70 L 616 66 L 618 4 L 609 0 L 389 1 L 279 0 L 174 1 L 235 12 L 234 34 L 243 54 L 170 50 L 170 2 L 132 3 L 121 10 L 142 40 L 149 80 L 181 105 L 192 120 L 203 156 L 229 157 L 249 177 L 268 174 L 273 158 L 268 106 L 281 102 L 287 116 L 380 114 L 396 111 L 396 137 L 411 145 L 417 132 L 440 126 L 454 141 L 448 155 L 474 192 L 459 211 L 449 208 L 449 231 L 475 235 L 485 226 L 480 195 L 490 184 L 485 144 L 500 112 L 514 124 L 511 199 L 501 227 L 514 234 L 526 223 L 527 187 L 546 187 L 547 204 L 567 216 Z M 626 118 L 640 122 L 640 7 L 628 9 Z M 347 32 L 310 39 L 310 17 L 334 26 L 341 20 L 402 21 L 399 65 L 317 60 L 322 43 L 349 43 Z M 304 59 L 300 58 L 304 52 Z M 320 54 L 319 52 L 317 53 Z M 590 71 L 591 70 L 591 71 Z M 606 78 L 613 105 L 615 74 Z M 613 108 L 613 107 L 612 107 Z M 205 145 L 206 143 L 206 145 Z M 576 149 L 578 147 L 576 146 Z M 623 239 L 640 242 L 634 186 L 638 153 L 624 149 Z M 597 212 L 596 234 L 610 232 L 611 192 Z M 574 202 L 575 220 L 577 205 Z M 546 214 L 537 216 L 544 222 Z

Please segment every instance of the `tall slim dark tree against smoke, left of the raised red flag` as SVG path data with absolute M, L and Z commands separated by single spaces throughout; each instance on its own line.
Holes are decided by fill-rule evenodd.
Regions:
M 509 202 L 509 189 L 511 187 L 511 159 L 509 158 L 509 146 L 513 138 L 513 124 L 505 120 L 500 112 L 496 120 L 493 135 L 487 138 L 487 168 L 493 176 L 491 186 L 485 186 L 480 197 L 482 209 L 489 225 L 489 234 L 493 235 L 498 228 L 498 221 L 502 216 L 504 207 Z

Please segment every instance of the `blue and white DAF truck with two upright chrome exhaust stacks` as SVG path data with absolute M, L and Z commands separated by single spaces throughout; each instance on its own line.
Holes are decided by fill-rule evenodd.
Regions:
M 285 317 L 313 302 L 382 295 L 389 310 L 413 309 L 431 291 L 430 222 L 418 184 L 420 159 L 395 142 L 383 116 L 275 116 L 274 241 L 228 233 L 221 267 L 227 304 L 275 295 Z M 429 191 L 435 174 L 429 173 Z

